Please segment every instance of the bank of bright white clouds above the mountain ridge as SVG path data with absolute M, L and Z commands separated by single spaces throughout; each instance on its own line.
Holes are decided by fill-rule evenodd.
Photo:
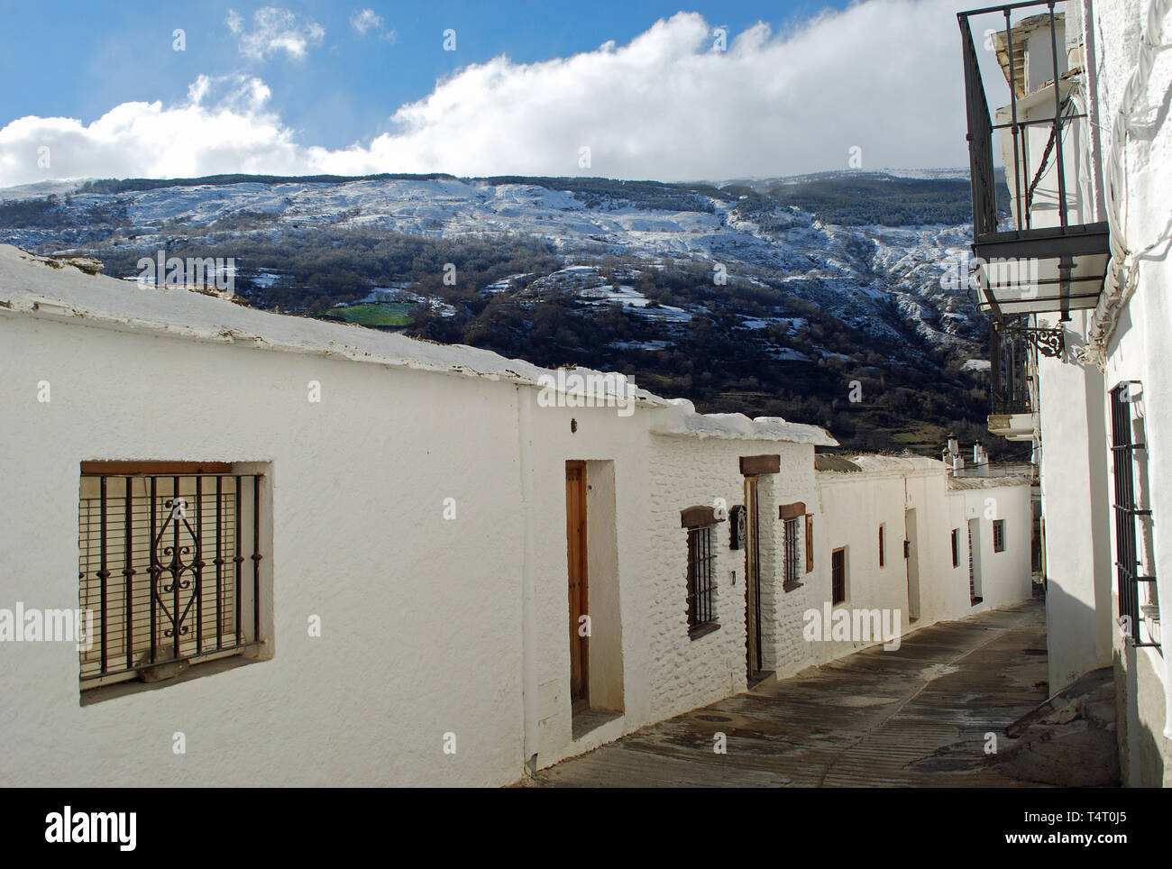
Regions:
M 217 172 L 724 179 L 846 169 L 854 146 L 864 169 L 965 165 L 953 2 L 868 0 L 785 34 L 729 34 L 727 52 L 680 13 L 626 46 L 465 67 L 395 111 L 391 132 L 338 150 L 299 141 L 260 80 L 200 76 L 175 107 L 123 103 L 89 125 L 13 121 L 0 129 L 0 186 Z M 255 22 L 271 21 L 264 12 Z

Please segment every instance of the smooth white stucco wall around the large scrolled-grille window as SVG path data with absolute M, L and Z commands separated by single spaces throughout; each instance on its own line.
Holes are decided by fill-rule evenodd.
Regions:
M 11 375 L 0 385 L 0 605 L 77 605 L 80 461 L 264 461 L 275 652 L 82 707 L 71 643 L 5 643 L 0 684 L 20 700 L 6 704 L 0 727 L 20 748 L 5 753 L 0 781 L 516 778 L 513 385 L 27 317 L 0 328 Z M 36 401 L 42 379 L 49 403 Z M 320 404 L 307 401 L 311 379 L 321 383 Z M 447 497 L 455 521 L 443 519 Z M 308 636 L 311 615 L 321 617 L 320 637 Z M 176 732 L 183 755 L 172 754 Z M 454 755 L 442 751 L 445 732 L 456 733 Z

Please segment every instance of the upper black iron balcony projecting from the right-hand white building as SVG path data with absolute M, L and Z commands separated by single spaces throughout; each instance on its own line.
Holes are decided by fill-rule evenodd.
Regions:
M 1022 18 L 1023 11 L 1041 14 Z M 1081 7 L 1079 7 L 1081 12 Z M 1004 326 L 1026 314 L 1095 308 L 1109 258 L 1098 185 L 1081 148 L 1081 40 L 1068 41 L 1061 0 L 990 6 L 958 14 L 965 61 L 973 252 L 979 308 Z M 996 25 L 994 27 L 994 25 Z M 1008 104 L 990 114 L 981 55 Z M 1072 32 L 1077 28 L 1072 26 Z M 1001 80 L 1003 77 L 1003 81 Z M 1009 189 L 1009 217 L 999 225 L 994 134 Z M 996 364 L 996 363 L 994 363 Z

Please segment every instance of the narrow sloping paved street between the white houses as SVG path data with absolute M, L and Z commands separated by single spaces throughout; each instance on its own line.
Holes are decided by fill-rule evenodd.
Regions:
M 926 627 L 897 651 L 872 646 L 766 680 L 544 769 L 529 784 L 1117 785 L 1110 669 L 1074 687 L 1013 728 L 1017 738 L 1007 735 L 1047 700 L 1045 610 L 1034 600 Z M 725 754 L 714 751 L 718 732 Z

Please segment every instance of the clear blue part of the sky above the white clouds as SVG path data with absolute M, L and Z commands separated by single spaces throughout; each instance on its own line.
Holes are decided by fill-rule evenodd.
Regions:
M 681 8 L 714 27 L 740 33 L 757 21 L 775 28 L 845 2 L 626 2 L 479 0 L 473 2 L 280 2 L 326 30 L 305 61 L 284 54 L 240 54 L 225 25 L 229 9 L 246 20 L 266 4 L 5 2 L 0 28 L 0 126 L 25 115 L 64 116 L 89 123 L 127 101 L 180 100 L 198 73 L 259 75 L 272 108 L 316 144 L 345 146 L 388 129 L 401 104 L 427 96 L 436 80 L 497 55 L 529 63 L 629 42 L 657 19 Z M 370 8 L 394 30 L 394 41 L 349 23 Z M 93 11 L 91 11 L 93 9 Z M 183 28 L 186 49 L 172 50 Z M 456 52 L 442 50 L 443 32 L 456 30 Z

